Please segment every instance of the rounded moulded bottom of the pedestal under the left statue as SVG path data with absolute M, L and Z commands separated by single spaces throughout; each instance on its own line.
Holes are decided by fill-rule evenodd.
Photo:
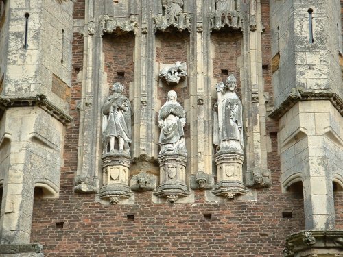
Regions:
M 99 190 L 99 198 L 110 201 L 110 204 L 119 204 L 124 198 L 130 198 L 132 195 L 130 187 L 126 184 L 107 184 Z

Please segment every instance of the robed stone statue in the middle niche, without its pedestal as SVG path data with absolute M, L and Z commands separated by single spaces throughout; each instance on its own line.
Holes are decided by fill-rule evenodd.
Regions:
M 168 101 L 158 112 L 158 127 L 161 134 L 158 143 L 161 145 L 159 154 L 186 155 L 185 135 L 183 127 L 186 124 L 186 113 L 180 103 L 176 101 L 176 92 L 168 92 Z

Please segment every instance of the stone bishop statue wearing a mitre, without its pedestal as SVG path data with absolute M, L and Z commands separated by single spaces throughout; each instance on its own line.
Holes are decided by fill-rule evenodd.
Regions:
M 236 78 L 217 83 L 217 103 L 213 112 L 213 144 L 217 150 L 243 153 L 242 105 L 235 93 Z

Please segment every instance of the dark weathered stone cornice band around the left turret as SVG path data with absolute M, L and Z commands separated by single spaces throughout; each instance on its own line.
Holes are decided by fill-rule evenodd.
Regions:
M 15 97 L 6 97 L 1 95 L 0 117 L 7 108 L 25 106 L 39 106 L 64 125 L 73 121 L 73 118 L 69 114 L 55 106 L 54 103 L 51 103 L 45 95 L 25 95 Z

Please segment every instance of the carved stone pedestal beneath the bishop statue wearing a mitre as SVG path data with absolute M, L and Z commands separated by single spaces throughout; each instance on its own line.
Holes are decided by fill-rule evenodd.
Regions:
M 228 199 L 235 195 L 245 195 L 248 191 L 243 182 L 243 154 L 218 152 L 215 154 L 217 165 L 217 183 L 215 184 L 215 195 L 221 195 Z

